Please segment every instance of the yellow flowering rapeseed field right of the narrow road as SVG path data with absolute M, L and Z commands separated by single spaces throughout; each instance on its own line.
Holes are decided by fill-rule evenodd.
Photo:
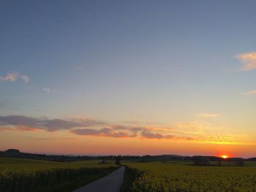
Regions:
M 245 166 L 193 166 L 182 161 L 126 165 L 142 172 L 129 191 L 256 191 L 253 162 L 246 162 Z

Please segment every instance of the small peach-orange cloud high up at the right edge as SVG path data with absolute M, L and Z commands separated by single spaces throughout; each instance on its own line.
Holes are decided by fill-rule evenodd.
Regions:
M 256 52 L 244 53 L 236 56 L 244 66 L 242 70 L 249 71 L 252 69 L 256 69 Z

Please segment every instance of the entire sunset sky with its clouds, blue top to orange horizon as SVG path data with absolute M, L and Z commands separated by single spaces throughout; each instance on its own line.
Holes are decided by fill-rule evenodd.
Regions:
M 0 1 L 0 150 L 256 156 L 256 1 Z

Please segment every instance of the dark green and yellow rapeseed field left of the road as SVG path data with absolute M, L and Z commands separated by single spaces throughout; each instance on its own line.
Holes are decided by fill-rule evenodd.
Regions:
M 98 163 L 0 158 L 0 191 L 71 191 L 116 169 L 114 164 Z

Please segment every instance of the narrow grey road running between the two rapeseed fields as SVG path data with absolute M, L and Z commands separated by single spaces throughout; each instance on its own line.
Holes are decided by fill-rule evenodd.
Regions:
M 118 192 L 124 180 L 124 166 L 72 192 Z

